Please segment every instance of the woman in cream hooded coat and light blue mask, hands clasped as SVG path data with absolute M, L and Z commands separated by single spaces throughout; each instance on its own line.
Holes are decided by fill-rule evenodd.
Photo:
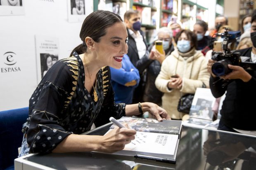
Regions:
M 163 61 L 155 85 L 164 93 L 162 107 L 168 110 L 171 119 L 180 120 L 186 114 L 177 109 L 180 97 L 194 94 L 197 87 L 209 87 L 210 74 L 204 55 L 196 50 L 197 35 L 181 30 L 175 42 L 177 49 Z

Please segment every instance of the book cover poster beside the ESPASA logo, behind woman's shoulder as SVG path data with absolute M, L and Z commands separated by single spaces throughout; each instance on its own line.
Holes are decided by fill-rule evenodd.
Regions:
M 36 67 L 38 84 L 59 60 L 59 38 L 36 35 Z

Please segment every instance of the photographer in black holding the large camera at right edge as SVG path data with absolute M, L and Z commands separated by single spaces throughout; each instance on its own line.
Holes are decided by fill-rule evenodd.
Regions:
M 251 64 L 250 67 L 244 67 L 240 61 L 237 64 L 233 62 L 235 64 L 227 64 L 228 73 L 225 75 L 217 74 L 216 76 L 217 70 L 214 70 L 212 65 L 220 63 L 220 61 L 213 60 L 213 55 L 207 64 L 208 72 L 211 73 L 210 88 L 213 96 L 219 98 L 226 91 L 226 97 L 220 110 L 219 130 L 239 133 L 255 130 L 256 132 L 256 107 L 254 106 L 256 104 L 256 67 L 254 66 L 256 65 L 256 13 L 251 19 L 251 40 L 253 47 L 235 51 L 235 54 L 239 52 L 240 56 L 248 57 L 246 62 Z M 225 59 L 227 61 L 233 60 L 232 56 L 230 58 L 224 57 L 223 61 Z

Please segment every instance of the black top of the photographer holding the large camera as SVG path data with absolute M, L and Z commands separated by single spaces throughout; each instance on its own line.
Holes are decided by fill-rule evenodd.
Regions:
M 238 50 L 241 56 L 251 57 L 251 48 Z M 241 130 L 256 130 L 256 71 L 246 69 L 252 76 L 249 82 L 243 82 L 241 79 L 232 80 L 224 88 L 221 87 L 223 80 L 220 80 L 213 86 L 213 82 L 219 77 L 210 78 L 210 88 L 213 96 L 218 98 L 225 91 L 226 97 L 220 110 L 221 120 L 230 128 Z

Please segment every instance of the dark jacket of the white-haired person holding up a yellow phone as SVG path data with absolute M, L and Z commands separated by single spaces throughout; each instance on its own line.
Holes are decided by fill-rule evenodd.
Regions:
M 151 44 L 148 51 L 151 51 L 154 44 Z M 174 51 L 173 45 L 165 50 L 166 56 L 169 56 Z M 142 57 L 136 64 L 137 69 L 142 73 L 147 69 L 145 91 L 143 94 L 143 100 L 145 102 L 153 102 L 156 104 L 161 103 L 163 93 L 159 91 L 155 86 L 156 77 L 159 75 L 161 70 L 161 64 L 157 60 L 150 60 L 148 56 Z

